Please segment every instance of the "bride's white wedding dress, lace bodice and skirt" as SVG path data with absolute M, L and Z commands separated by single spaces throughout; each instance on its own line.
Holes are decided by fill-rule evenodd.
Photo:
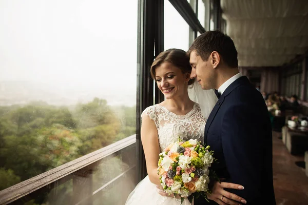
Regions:
M 203 117 L 197 103 L 186 115 L 176 115 L 161 105 L 146 108 L 141 117 L 146 115 L 155 122 L 161 152 L 170 143 L 177 141 L 179 136 L 185 141 L 189 139 L 204 140 L 206 119 Z M 187 199 L 183 202 L 183 204 L 185 203 L 190 204 Z M 151 183 L 148 176 L 146 176 L 130 193 L 125 204 L 170 205 L 181 204 L 181 200 L 174 197 L 161 196 L 156 185 Z

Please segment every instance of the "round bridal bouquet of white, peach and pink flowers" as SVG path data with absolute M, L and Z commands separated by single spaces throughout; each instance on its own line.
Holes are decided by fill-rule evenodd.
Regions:
M 209 146 L 203 147 L 196 139 L 179 141 L 170 144 L 165 152 L 160 153 L 158 161 L 158 174 L 160 182 L 169 194 L 177 194 L 188 198 L 192 202 L 194 197 L 203 196 L 207 201 L 206 193 L 210 193 L 209 181 L 219 181 L 214 171 L 209 170 L 216 161 Z

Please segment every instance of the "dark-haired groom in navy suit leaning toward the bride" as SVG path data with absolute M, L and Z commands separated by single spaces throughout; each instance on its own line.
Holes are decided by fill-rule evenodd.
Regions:
M 216 89 L 220 95 L 204 134 L 219 161 L 212 168 L 225 182 L 244 187 L 225 190 L 243 197 L 246 204 L 276 204 L 271 122 L 261 93 L 239 73 L 233 40 L 220 31 L 207 31 L 195 39 L 188 54 L 190 77 L 202 89 Z M 221 189 L 210 195 L 210 204 L 230 203 L 227 197 Z M 208 203 L 197 199 L 198 204 Z

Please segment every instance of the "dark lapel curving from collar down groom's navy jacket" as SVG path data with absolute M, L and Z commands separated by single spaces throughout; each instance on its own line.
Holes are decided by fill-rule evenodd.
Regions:
M 240 85 L 243 84 L 247 84 L 249 85 L 250 82 L 248 80 L 248 78 L 246 76 L 242 76 L 238 79 L 236 79 L 232 84 L 230 84 L 227 89 L 222 93 L 221 97 L 219 98 L 219 100 L 217 101 L 216 105 L 214 106 L 213 110 L 211 111 L 211 113 L 209 114 L 206 124 L 205 124 L 205 128 L 204 128 L 204 143 L 207 144 L 207 133 L 208 133 L 208 129 L 211 125 L 211 123 L 213 122 L 219 108 L 221 107 L 224 98 L 229 95 L 234 89 L 236 89 L 237 87 L 239 87 Z

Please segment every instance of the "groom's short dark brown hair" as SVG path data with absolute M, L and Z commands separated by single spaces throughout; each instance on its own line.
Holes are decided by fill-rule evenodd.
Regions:
M 217 51 L 224 63 L 230 68 L 238 67 L 237 50 L 230 36 L 221 31 L 206 31 L 192 42 L 188 55 L 196 51 L 203 61 L 206 61 L 213 51 Z

